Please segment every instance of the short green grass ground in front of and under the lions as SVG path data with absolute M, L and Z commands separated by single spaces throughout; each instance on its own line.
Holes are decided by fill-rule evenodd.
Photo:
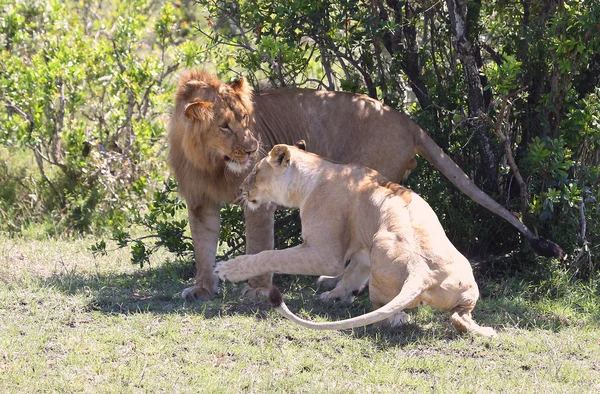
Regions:
M 598 392 L 597 289 L 540 297 L 525 283 L 481 284 L 475 318 L 496 339 L 456 334 L 447 314 L 410 311 L 389 330 L 309 331 L 262 299 L 221 285 L 205 303 L 178 292 L 191 263 L 126 250 L 94 258 L 92 240 L 0 237 L 0 392 Z M 292 310 L 341 319 L 370 309 L 324 304 L 314 280 L 277 277 Z

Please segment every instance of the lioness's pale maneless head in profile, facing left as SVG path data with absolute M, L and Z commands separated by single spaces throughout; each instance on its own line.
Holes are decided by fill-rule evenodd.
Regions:
M 304 141 L 298 141 L 296 146 L 275 145 L 265 158 L 256 163 L 252 172 L 242 182 L 241 195 L 244 203 L 250 209 L 256 209 L 270 201 L 288 205 L 286 197 L 292 181 L 292 156 L 294 152 L 305 149 Z

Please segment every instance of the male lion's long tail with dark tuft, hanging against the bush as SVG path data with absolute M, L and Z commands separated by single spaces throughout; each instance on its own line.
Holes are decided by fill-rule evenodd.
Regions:
M 460 191 L 516 227 L 517 230 L 527 238 L 527 241 L 529 241 L 531 247 L 537 254 L 544 257 L 557 257 L 559 259 L 564 257 L 565 252 L 560 246 L 552 241 L 536 238 L 533 232 L 519 219 L 479 189 L 467 174 L 465 174 L 464 171 L 444 153 L 425 131 L 416 125 L 415 127 L 418 128 L 417 135 L 420 137 L 418 141 L 415 141 L 416 153 L 420 154 L 433 164 L 435 168 L 444 174 L 444 176 Z

